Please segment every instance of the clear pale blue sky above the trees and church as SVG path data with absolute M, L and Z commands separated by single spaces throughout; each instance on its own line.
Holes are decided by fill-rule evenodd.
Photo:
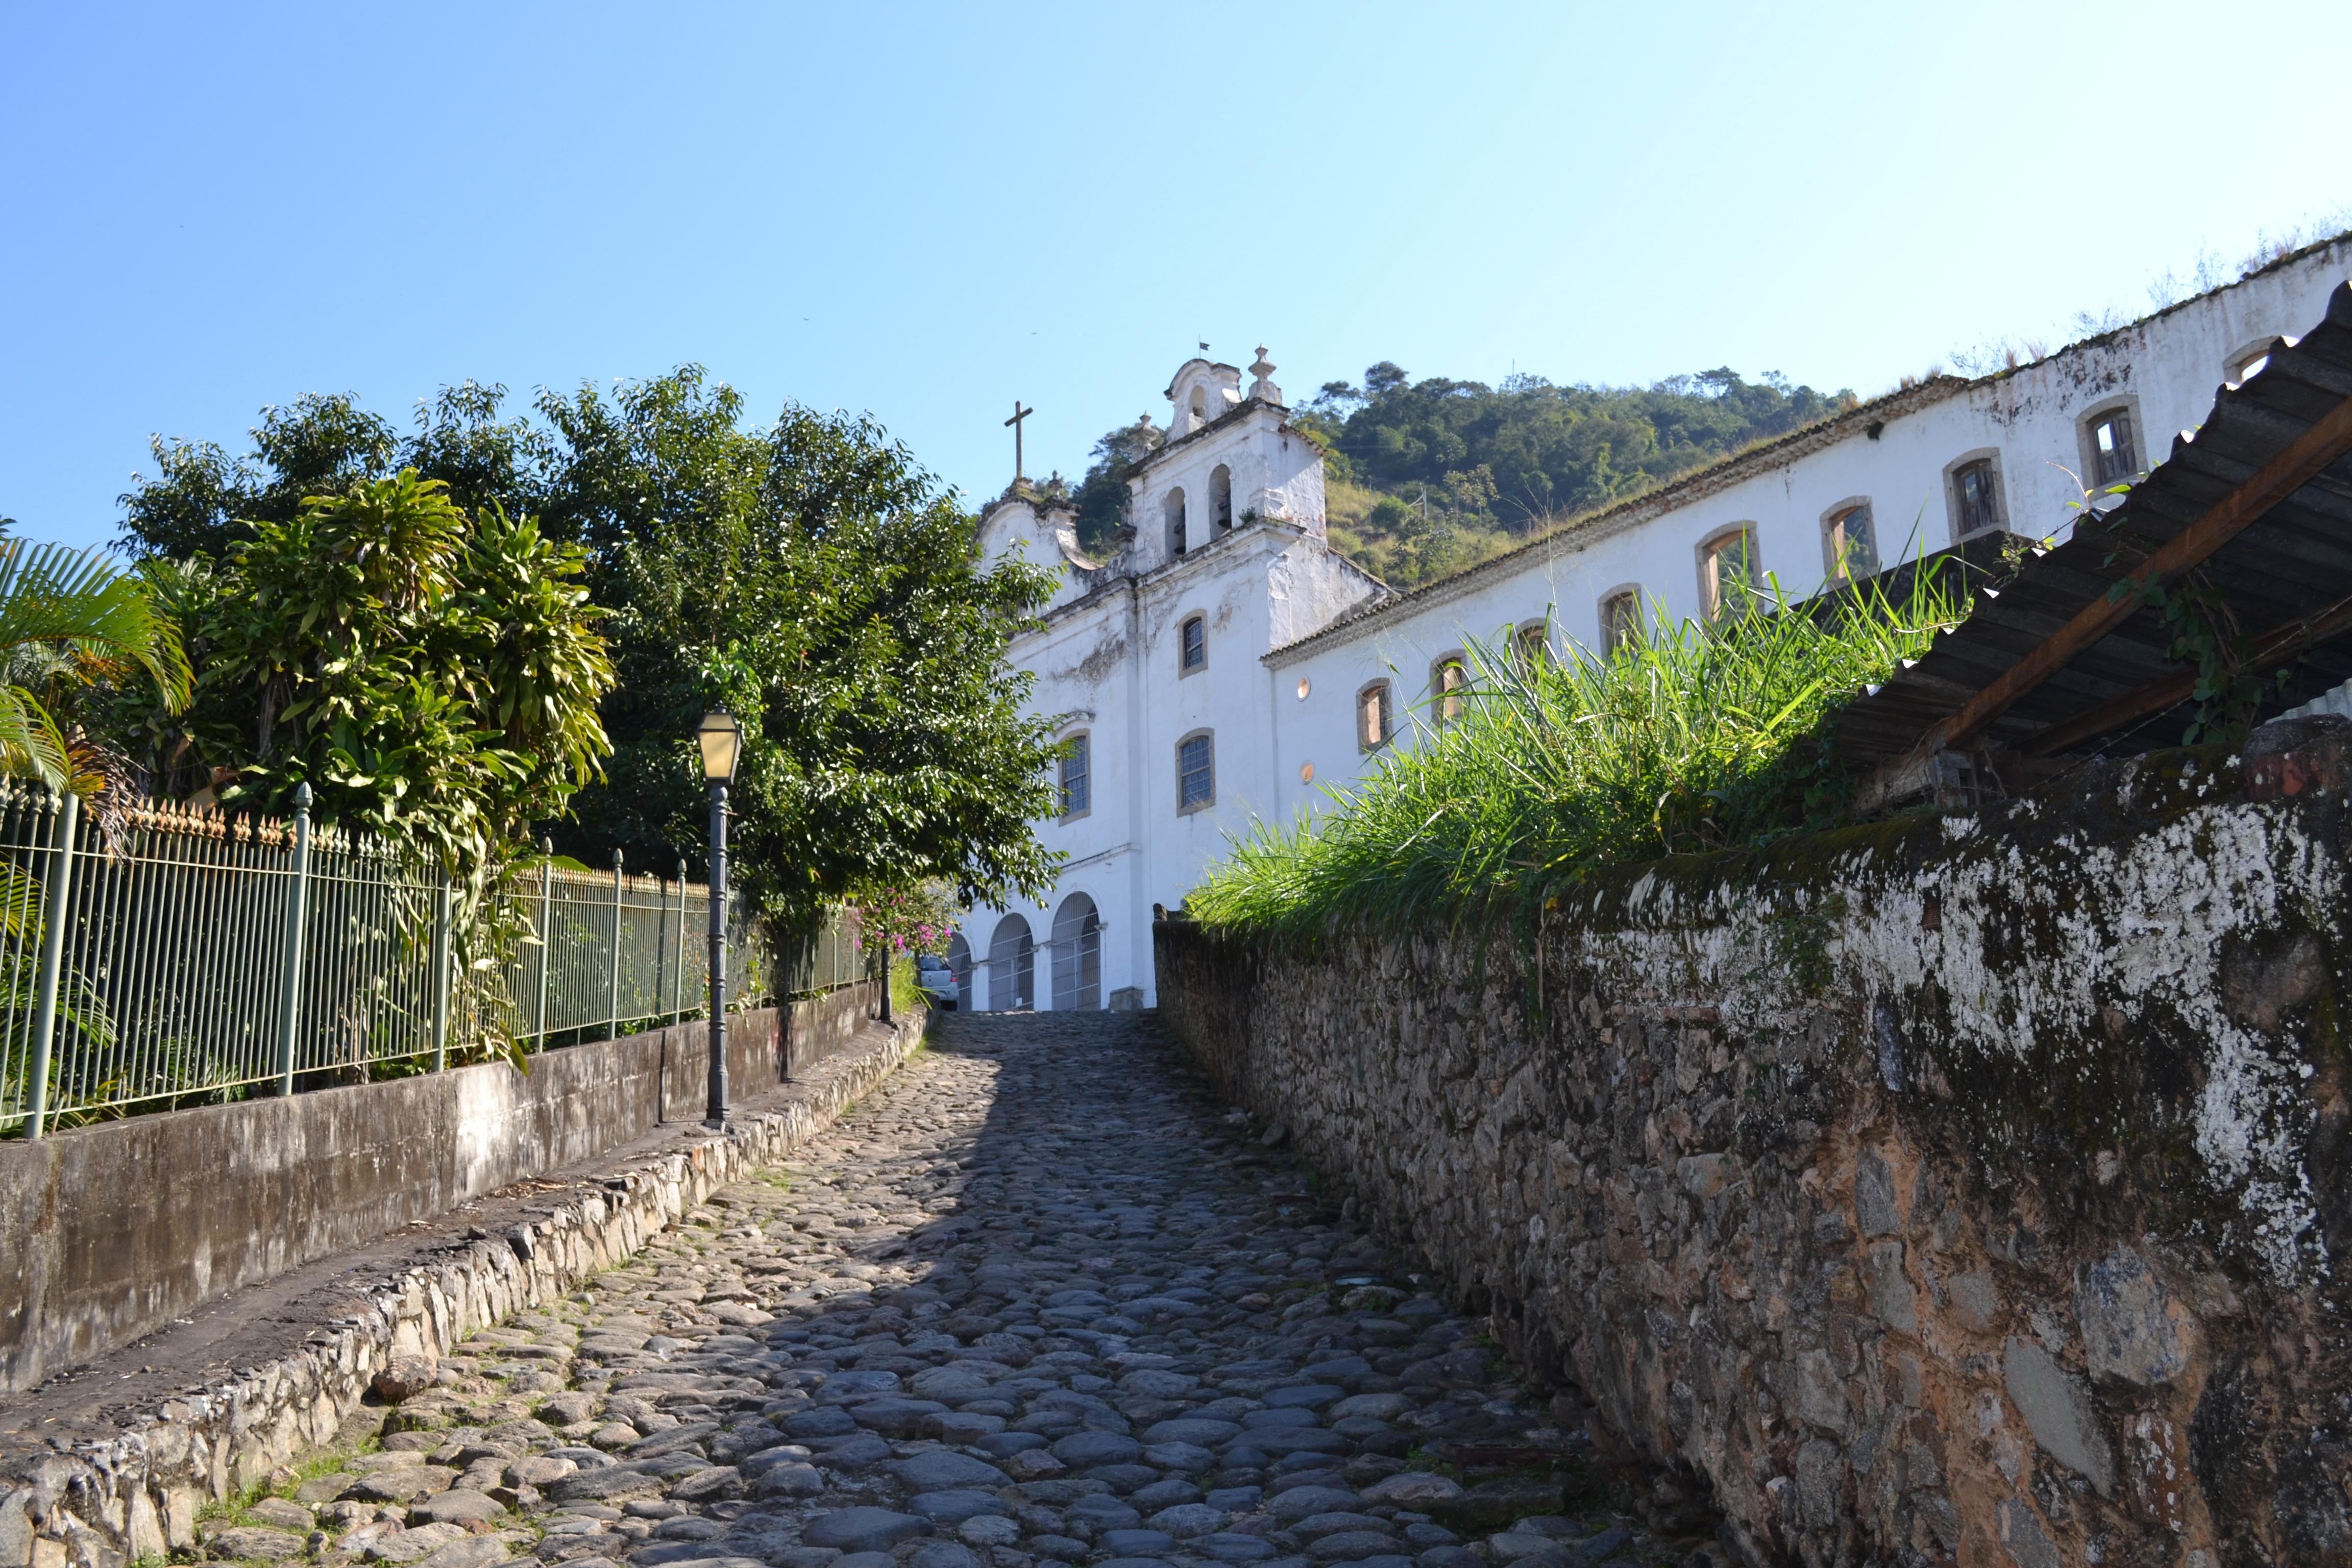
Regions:
M 2352 7 L 0 0 L 0 515 L 148 433 L 696 360 L 976 496 L 1202 339 L 1863 393 L 2343 212 Z

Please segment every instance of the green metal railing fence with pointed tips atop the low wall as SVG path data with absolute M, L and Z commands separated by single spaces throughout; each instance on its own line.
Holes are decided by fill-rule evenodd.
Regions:
M 699 1018 L 710 891 L 677 872 L 524 875 L 487 912 L 520 933 L 501 964 L 397 844 L 169 804 L 108 842 L 0 778 L 0 1138 Z M 727 952 L 731 1006 L 866 978 L 847 919 L 771 954 L 736 914 Z

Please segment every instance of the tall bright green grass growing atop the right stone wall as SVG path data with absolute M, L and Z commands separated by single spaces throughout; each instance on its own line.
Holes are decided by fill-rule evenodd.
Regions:
M 1451 722 L 1423 708 L 1409 748 L 1334 788 L 1319 818 L 1235 842 L 1185 910 L 1305 943 L 1406 931 L 1604 865 L 1828 827 L 1849 799 L 1832 719 L 1969 614 L 1940 567 L 1802 604 L 1766 578 L 1712 625 L 1656 614 L 1606 656 L 1526 665 L 1503 642 L 1472 646 Z

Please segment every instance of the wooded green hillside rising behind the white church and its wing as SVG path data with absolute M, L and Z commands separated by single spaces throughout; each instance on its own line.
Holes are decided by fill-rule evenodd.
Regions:
M 1543 376 L 1486 386 L 1414 381 L 1383 360 L 1362 386 L 1324 383 L 1291 423 L 1324 449 L 1331 543 L 1411 588 L 1853 402 L 1851 390 L 1818 393 L 1778 371 L 1745 381 L 1710 369 L 1649 388 Z M 1108 548 L 1127 473 L 1162 435 L 1136 421 L 1094 444 L 1075 496 L 1089 548 Z

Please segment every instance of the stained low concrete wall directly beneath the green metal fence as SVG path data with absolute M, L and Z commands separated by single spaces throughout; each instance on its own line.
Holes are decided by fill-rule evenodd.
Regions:
M 757 1095 L 837 1053 L 875 985 L 729 1020 Z M 0 1145 L 0 1392 L 292 1267 L 706 1107 L 706 1025 Z

